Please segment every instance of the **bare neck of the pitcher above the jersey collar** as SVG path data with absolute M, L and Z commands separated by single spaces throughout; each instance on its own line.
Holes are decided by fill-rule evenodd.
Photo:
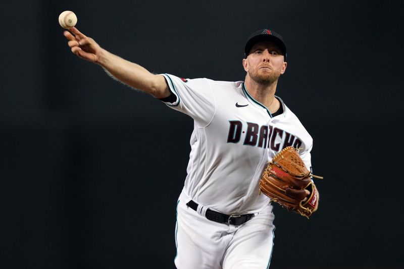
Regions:
M 279 101 L 275 98 L 276 85 L 278 81 L 271 84 L 263 85 L 250 79 L 248 76 L 245 78 L 245 88 L 248 93 L 257 101 L 265 105 L 271 113 L 279 109 Z

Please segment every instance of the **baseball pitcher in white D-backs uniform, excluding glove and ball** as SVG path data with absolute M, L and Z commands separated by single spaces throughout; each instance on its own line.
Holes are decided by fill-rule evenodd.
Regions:
M 282 37 L 268 29 L 253 33 L 244 47 L 245 80 L 226 82 L 155 75 L 103 49 L 77 28 L 70 31 L 64 35 L 78 57 L 194 120 L 187 177 L 177 203 L 177 268 L 268 268 L 275 227 L 269 198 L 259 195 L 261 173 L 287 146 L 300 148 L 311 168 L 313 142 L 275 95 L 287 66 Z

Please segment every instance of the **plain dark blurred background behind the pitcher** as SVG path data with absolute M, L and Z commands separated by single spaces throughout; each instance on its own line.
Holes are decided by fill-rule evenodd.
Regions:
M 274 206 L 271 268 L 404 268 L 398 0 L 4 3 L 1 268 L 174 268 L 192 120 L 73 55 L 64 10 L 106 49 L 185 78 L 243 80 L 248 35 L 281 33 L 277 95 L 325 179 L 309 221 Z

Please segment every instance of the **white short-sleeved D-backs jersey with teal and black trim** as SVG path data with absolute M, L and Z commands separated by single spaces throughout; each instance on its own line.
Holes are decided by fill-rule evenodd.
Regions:
M 279 97 L 283 114 L 272 117 L 242 81 L 164 76 L 177 97 L 166 104 L 194 120 L 183 189 L 193 201 L 226 214 L 255 213 L 268 205 L 259 195 L 262 170 L 282 148 L 301 148 L 311 168 L 313 139 Z

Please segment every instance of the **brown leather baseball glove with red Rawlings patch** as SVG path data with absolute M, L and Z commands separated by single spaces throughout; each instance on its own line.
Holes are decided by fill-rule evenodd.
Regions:
M 316 186 L 311 177 L 322 179 L 311 174 L 295 148 L 285 147 L 266 165 L 260 180 L 260 192 L 282 207 L 309 218 L 318 204 Z

